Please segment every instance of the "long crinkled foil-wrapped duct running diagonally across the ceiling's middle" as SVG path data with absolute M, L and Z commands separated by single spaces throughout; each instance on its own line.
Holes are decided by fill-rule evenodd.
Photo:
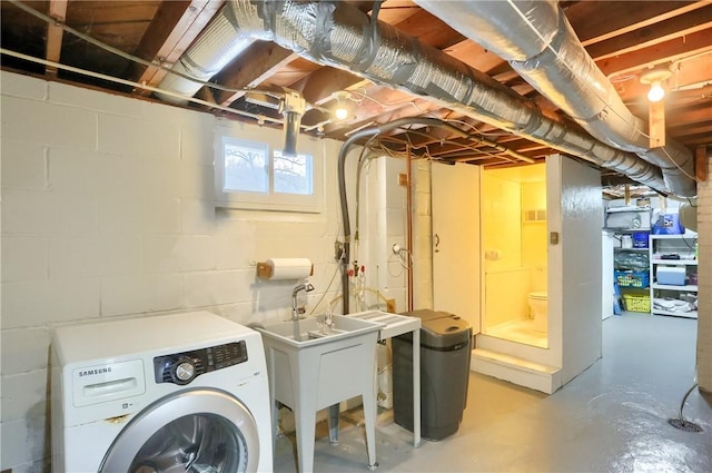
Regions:
M 458 2 L 463 4 L 464 2 Z M 669 194 L 657 166 L 548 117 L 533 101 L 343 1 L 229 0 L 235 36 L 399 88 Z M 210 24 L 208 24 L 208 28 Z M 161 86 L 162 87 L 162 86 Z

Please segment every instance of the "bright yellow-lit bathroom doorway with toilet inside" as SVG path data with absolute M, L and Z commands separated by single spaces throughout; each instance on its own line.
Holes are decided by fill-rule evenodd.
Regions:
M 546 165 L 482 171 L 482 333 L 548 348 Z

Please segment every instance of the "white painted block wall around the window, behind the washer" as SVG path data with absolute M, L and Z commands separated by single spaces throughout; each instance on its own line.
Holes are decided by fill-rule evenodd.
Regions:
M 9 72 L 0 79 L 0 470 L 39 472 L 50 455 L 55 326 L 194 308 L 244 324 L 286 319 L 295 282 L 255 276 L 255 263 L 269 257 L 314 262 L 315 308 L 336 272 L 340 144 L 299 139 L 300 150 L 325 159 L 323 213 L 216 209 L 224 119 Z M 230 126 L 281 146 L 280 130 Z M 340 294 L 338 283 L 328 292 L 324 300 Z

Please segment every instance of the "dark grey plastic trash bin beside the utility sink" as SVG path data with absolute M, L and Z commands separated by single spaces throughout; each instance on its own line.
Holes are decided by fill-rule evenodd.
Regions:
M 459 428 L 467 404 L 472 328 L 456 315 L 419 309 L 421 432 L 442 440 Z M 394 422 L 413 431 L 413 333 L 393 338 Z

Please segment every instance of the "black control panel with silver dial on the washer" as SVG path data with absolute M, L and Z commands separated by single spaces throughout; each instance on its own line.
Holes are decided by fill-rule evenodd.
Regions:
M 222 369 L 247 361 L 245 341 L 174 353 L 154 358 L 156 383 L 188 384 L 204 373 Z

